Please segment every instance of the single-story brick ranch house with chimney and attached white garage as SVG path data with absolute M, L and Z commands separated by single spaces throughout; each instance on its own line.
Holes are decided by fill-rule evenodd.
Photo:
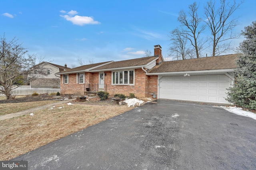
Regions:
M 164 62 L 161 46 L 155 45 L 152 57 L 89 64 L 56 75 L 63 94 L 84 95 L 86 88 L 97 86 L 112 95 L 228 104 L 224 98 L 234 80 L 235 59 L 224 55 Z

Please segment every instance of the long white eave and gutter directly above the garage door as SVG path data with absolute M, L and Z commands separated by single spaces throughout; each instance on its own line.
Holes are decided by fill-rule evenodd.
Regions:
M 177 71 L 177 72 L 153 72 L 147 73 L 148 76 L 183 76 L 184 74 L 193 75 L 206 75 L 206 74 L 226 74 L 228 72 L 234 72 L 234 68 L 220 69 L 220 70 L 198 70 L 198 71 Z

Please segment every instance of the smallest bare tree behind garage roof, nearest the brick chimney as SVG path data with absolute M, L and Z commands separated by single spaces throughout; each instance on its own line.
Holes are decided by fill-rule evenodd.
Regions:
M 170 48 L 169 56 L 174 60 L 185 60 L 191 58 L 192 49 L 188 47 L 188 38 L 184 32 L 178 28 L 170 32 Z

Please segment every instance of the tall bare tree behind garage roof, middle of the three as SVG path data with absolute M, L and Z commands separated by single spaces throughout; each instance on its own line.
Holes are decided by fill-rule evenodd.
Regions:
M 200 34 L 204 32 L 206 25 L 202 24 L 202 18 L 197 14 L 198 6 L 196 2 L 189 6 L 188 16 L 184 10 L 180 11 L 178 21 L 184 27 L 181 34 L 184 38 L 187 38 L 196 52 L 196 58 L 200 57 L 200 52 L 203 50 L 203 45 L 206 40 L 200 39 Z

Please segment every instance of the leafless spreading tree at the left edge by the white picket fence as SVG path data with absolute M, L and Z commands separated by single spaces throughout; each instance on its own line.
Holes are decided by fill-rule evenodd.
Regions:
M 38 57 L 27 54 L 28 51 L 17 41 L 15 37 L 7 41 L 5 35 L 0 39 L 0 93 L 5 94 L 7 100 L 12 95 L 11 90 L 23 84 L 22 79 L 26 83 L 35 80 L 38 75 L 47 74 L 42 64 L 36 64 Z

